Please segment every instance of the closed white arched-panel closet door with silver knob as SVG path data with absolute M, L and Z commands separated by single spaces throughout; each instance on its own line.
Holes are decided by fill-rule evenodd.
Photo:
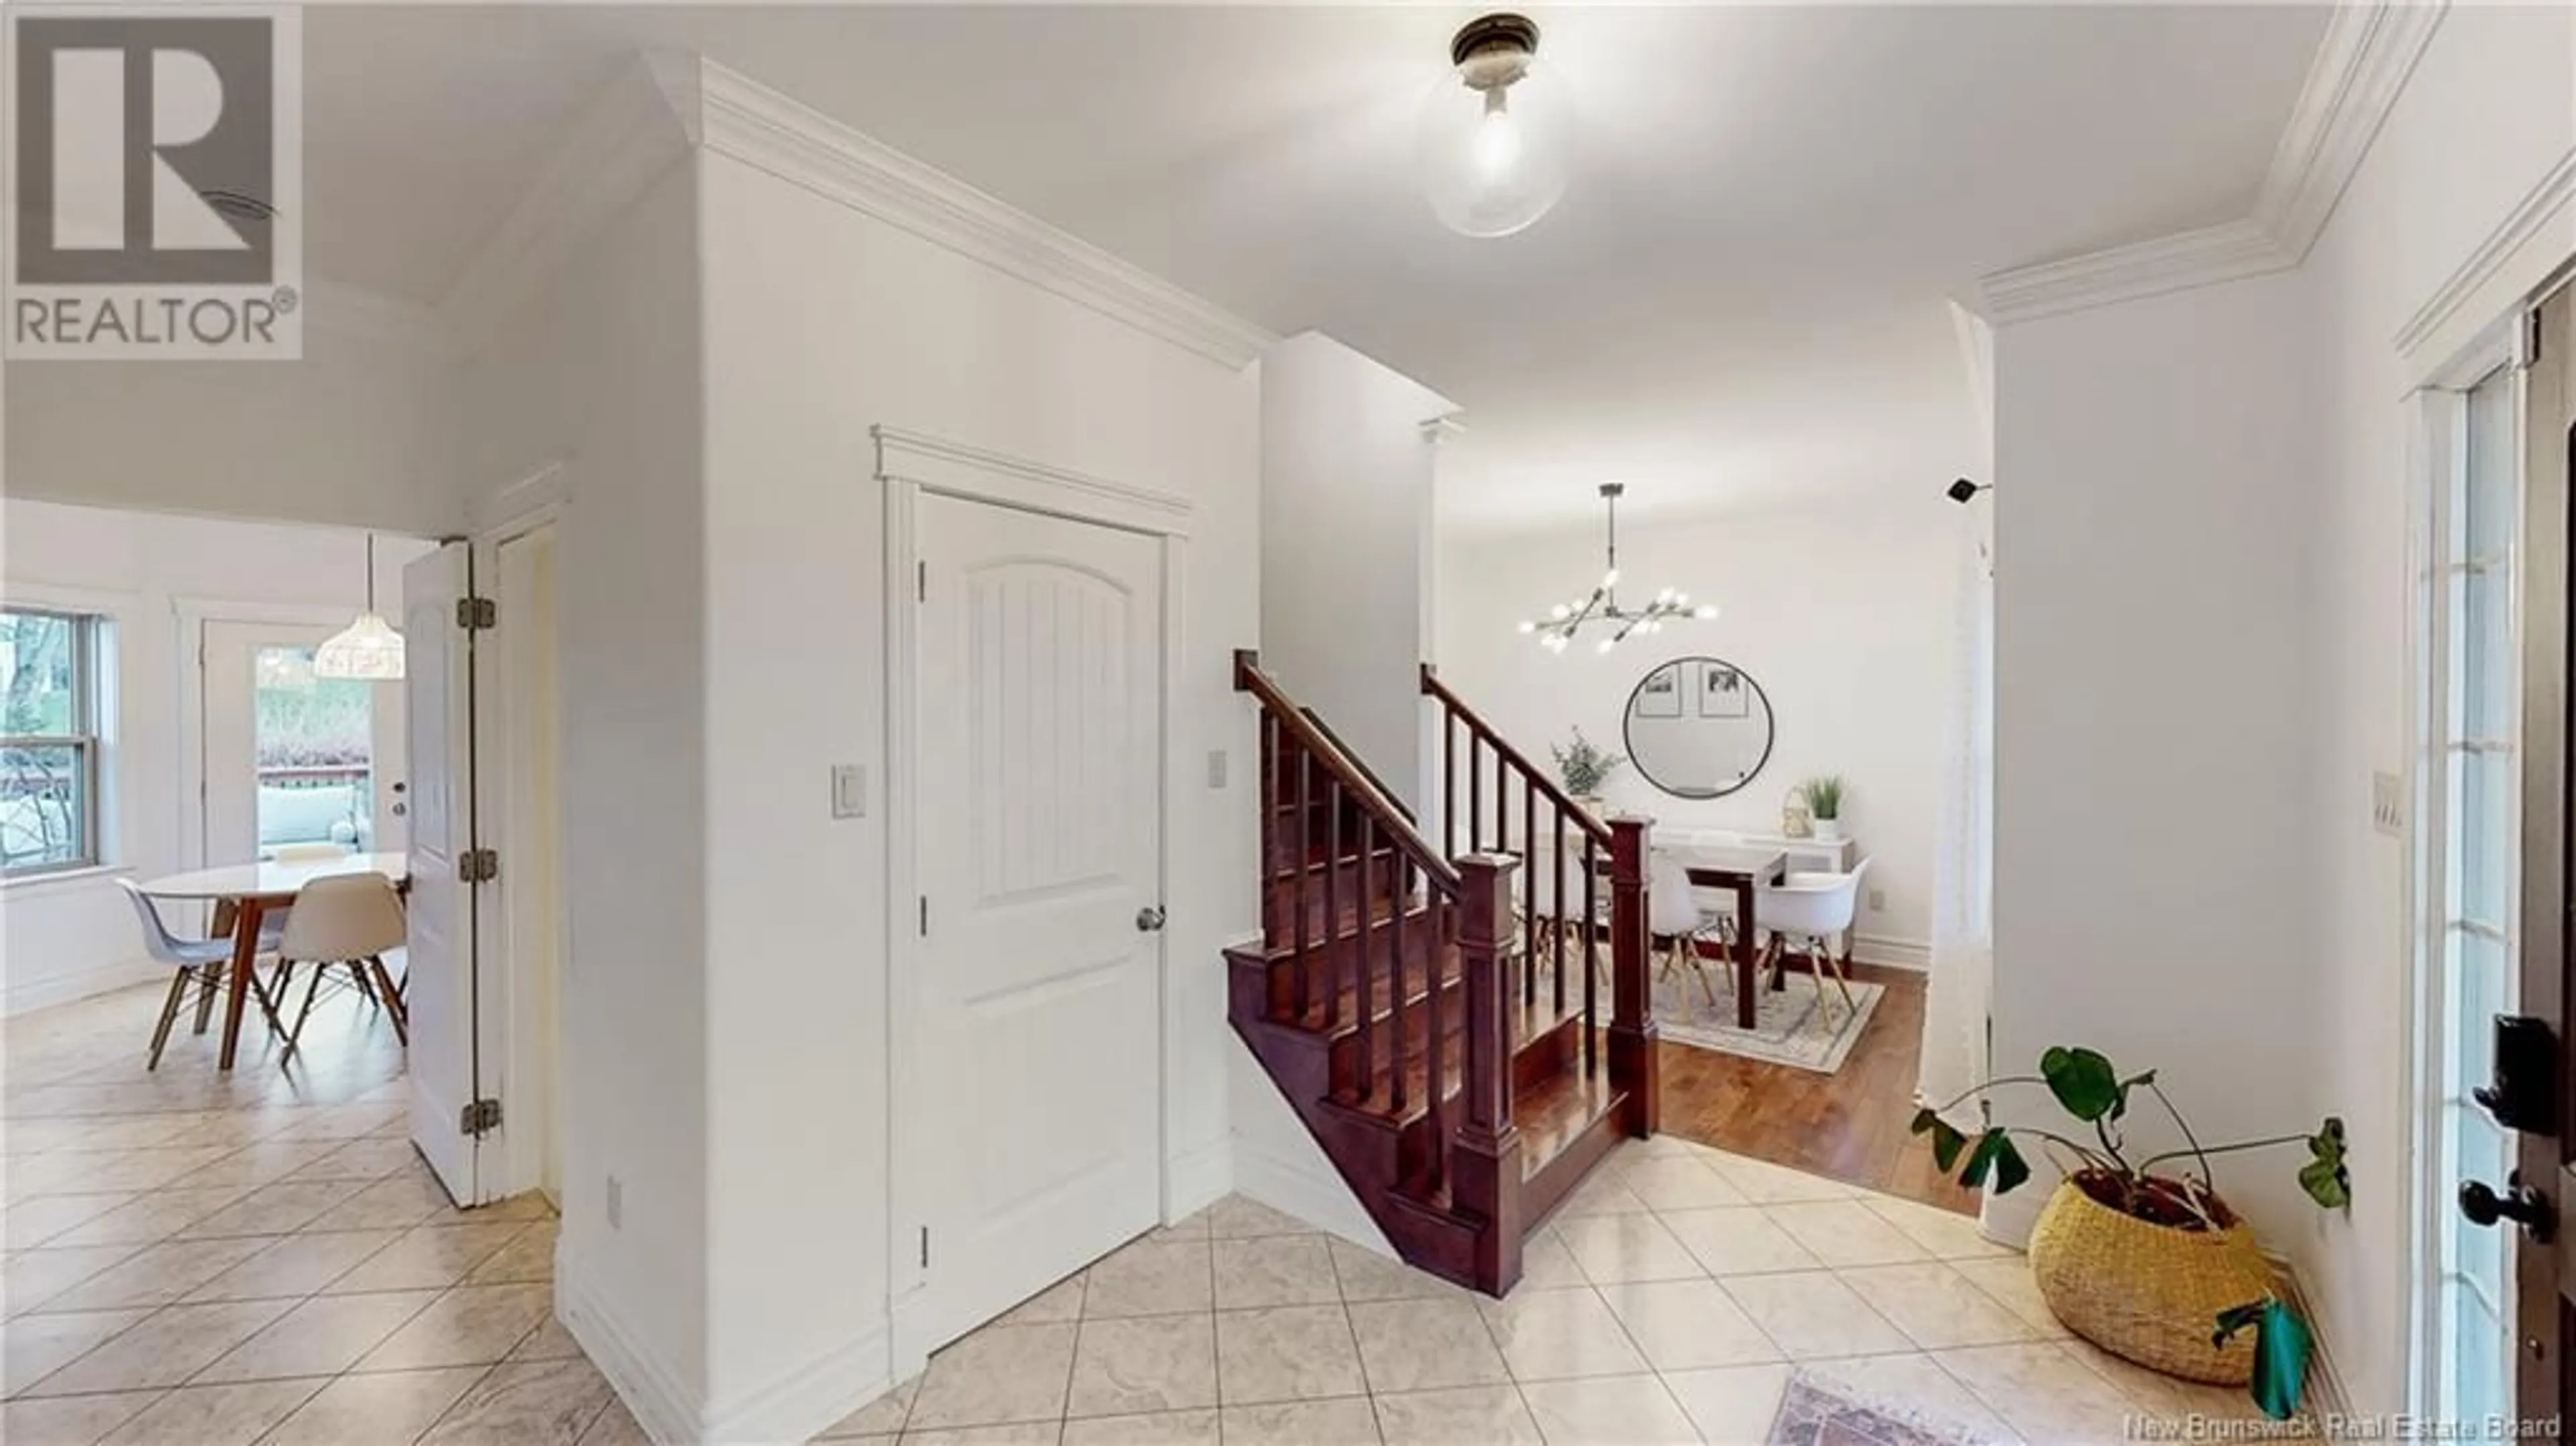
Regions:
M 1162 1217 L 1162 554 L 922 497 L 930 1338 Z

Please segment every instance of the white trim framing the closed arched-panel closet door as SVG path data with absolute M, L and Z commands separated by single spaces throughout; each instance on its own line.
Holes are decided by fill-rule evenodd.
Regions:
M 935 1144 L 920 1137 L 922 1059 L 920 1039 L 920 879 L 914 851 L 920 845 L 920 817 L 914 778 L 920 771 L 920 740 L 914 737 L 914 704 L 920 691 L 920 546 L 914 539 L 914 513 L 925 492 L 992 503 L 1028 513 L 1043 513 L 1077 523 L 1110 526 L 1162 539 L 1162 750 L 1154 766 L 1157 778 L 1157 838 L 1162 856 L 1154 861 L 1157 894 L 1170 897 L 1172 879 L 1172 678 L 1180 673 L 1180 577 L 1188 546 L 1190 500 L 1108 482 L 1079 472 L 1066 472 L 1041 461 L 1025 461 L 997 451 L 951 443 L 889 425 L 868 428 L 876 441 L 876 482 L 884 487 L 884 546 L 886 546 L 886 1193 L 889 1193 L 889 1320 L 886 1333 L 894 1356 L 894 1379 L 902 1382 L 930 1358 L 930 1271 L 922 1268 L 922 1232 L 930 1222 L 927 1160 Z M 1172 1101 L 1172 956 L 1167 936 L 1157 938 L 1157 1008 L 1162 1013 L 1162 1072 L 1159 1116 L 1164 1160 L 1162 1201 L 1164 1219 L 1172 1211 L 1170 1152 L 1177 1137 Z

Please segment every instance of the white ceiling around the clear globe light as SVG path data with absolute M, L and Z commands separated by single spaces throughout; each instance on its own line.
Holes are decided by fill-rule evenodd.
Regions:
M 1409 178 L 1473 8 L 307 10 L 307 253 L 435 302 L 636 46 L 703 52 L 1466 407 L 1471 528 L 1935 500 L 1945 296 L 2246 214 L 2324 8 L 1538 8 L 1574 183 L 1507 240 Z M 1947 503 L 1940 503 L 1947 505 Z

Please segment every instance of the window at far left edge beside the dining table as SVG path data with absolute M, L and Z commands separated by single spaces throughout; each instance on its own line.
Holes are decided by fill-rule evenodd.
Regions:
M 98 863 L 98 619 L 0 608 L 0 876 Z

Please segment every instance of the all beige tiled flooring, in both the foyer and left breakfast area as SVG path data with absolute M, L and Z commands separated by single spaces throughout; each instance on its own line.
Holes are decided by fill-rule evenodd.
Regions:
M 142 1054 L 157 990 L 5 1028 L 10 1446 L 631 1446 L 551 1322 L 554 1222 L 456 1211 L 343 1000 L 281 1072 Z M 2241 1392 L 2066 1340 L 1955 1214 L 1674 1137 L 1625 1147 L 1489 1302 L 1244 1199 L 1159 1229 L 840 1423 L 878 1446 L 1762 1441 L 1790 1371 L 1963 1438 L 2136 1438 Z

